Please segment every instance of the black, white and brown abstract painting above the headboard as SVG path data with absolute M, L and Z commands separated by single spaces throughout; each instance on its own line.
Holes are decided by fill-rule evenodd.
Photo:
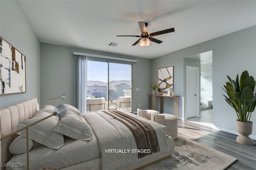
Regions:
M 26 92 L 26 57 L 0 36 L 0 95 Z

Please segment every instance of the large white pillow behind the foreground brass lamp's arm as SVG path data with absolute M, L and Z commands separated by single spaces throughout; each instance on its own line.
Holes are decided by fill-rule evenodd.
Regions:
M 15 130 L 23 128 L 26 125 L 30 125 L 31 123 L 34 123 L 49 115 L 52 114 L 40 110 L 32 119 L 20 122 Z M 49 148 L 59 149 L 61 146 L 64 145 L 64 138 L 62 134 L 53 130 L 57 123 L 58 118 L 55 116 L 52 116 L 40 123 L 37 123 L 36 125 L 28 128 L 28 137 Z M 26 129 L 18 132 L 17 134 L 26 137 Z

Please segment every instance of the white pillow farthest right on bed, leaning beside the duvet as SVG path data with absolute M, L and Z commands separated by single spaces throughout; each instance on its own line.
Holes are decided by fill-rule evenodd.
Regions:
M 54 130 L 76 140 L 91 140 L 93 138 L 92 128 L 72 111 L 68 111 L 55 126 Z

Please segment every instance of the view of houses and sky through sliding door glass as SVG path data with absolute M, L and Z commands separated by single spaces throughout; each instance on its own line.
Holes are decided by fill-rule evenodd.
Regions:
M 120 96 L 130 96 L 131 89 L 131 65 L 120 63 L 108 63 L 100 61 L 88 61 L 87 63 L 87 89 L 86 97 L 108 98 L 109 76 L 109 100 L 118 100 Z

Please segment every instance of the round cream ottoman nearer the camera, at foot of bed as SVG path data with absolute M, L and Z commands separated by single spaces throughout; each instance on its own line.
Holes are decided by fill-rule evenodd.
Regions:
M 166 133 L 171 136 L 174 140 L 178 135 L 178 118 L 174 115 L 162 113 L 152 114 L 151 121 L 157 122 L 167 127 Z

